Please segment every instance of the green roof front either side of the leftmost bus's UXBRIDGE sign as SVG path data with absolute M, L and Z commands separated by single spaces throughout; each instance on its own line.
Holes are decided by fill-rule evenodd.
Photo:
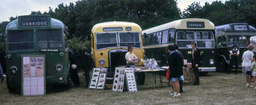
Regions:
M 66 26 L 59 20 L 51 18 L 50 19 L 50 27 L 27 27 L 27 28 L 19 28 L 19 23 L 18 23 L 18 19 L 13 20 L 12 22 L 10 22 L 7 26 L 5 30 L 16 30 L 16 29 L 34 29 L 34 28 L 39 28 L 39 29 L 64 29 L 66 28 Z

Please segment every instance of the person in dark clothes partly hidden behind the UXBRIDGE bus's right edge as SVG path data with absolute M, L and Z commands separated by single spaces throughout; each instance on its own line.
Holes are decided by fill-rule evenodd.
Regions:
M 70 75 L 71 80 L 73 81 L 75 86 L 80 86 L 79 76 L 77 73 L 77 65 L 75 64 L 75 55 L 74 53 L 69 50 L 69 67 L 70 67 Z

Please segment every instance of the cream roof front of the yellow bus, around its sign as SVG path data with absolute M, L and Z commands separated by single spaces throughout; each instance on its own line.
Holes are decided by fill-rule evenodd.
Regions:
M 96 24 L 92 27 L 92 32 L 104 32 L 103 28 L 114 28 L 114 27 L 122 27 L 123 30 L 122 31 L 126 31 L 126 27 L 131 27 L 131 31 L 141 31 L 141 27 L 136 24 L 136 23 L 132 23 L 132 22 L 123 22 L 123 21 L 110 21 L 110 22 L 104 22 L 104 23 L 99 23 Z M 111 32 L 111 31 L 108 31 Z M 112 31 L 114 32 L 114 31 Z

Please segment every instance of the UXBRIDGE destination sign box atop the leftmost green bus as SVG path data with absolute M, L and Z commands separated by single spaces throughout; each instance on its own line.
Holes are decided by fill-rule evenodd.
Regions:
M 19 27 L 47 27 L 50 26 L 49 15 L 19 16 Z

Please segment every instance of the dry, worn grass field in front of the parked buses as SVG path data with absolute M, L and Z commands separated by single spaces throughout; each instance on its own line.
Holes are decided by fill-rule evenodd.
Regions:
M 0 84 L 1 105 L 255 105 L 256 90 L 246 87 L 245 77 L 239 72 L 231 73 L 209 72 L 200 77 L 200 85 L 193 86 L 184 80 L 184 93 L 180 97 L 169 94 L 172 89 L 167 84 L 155 88 L 154 79 L 146 74 L 145 85 L 138 86 L 138 92 L 114 92 L 112 88 L 105 90 L 88 90 L 83 87 L 83 76 L 79 73 L 81 87 L 69 90 L 50 92 L 45 96 L 20 96 L 9 93 L 5 84 Z M 165 77 L 163 77 L 165 78 Z M 159 76 L 157 76 L 159 81 Z M 252 83 L 252 85 L 254 85 Z

